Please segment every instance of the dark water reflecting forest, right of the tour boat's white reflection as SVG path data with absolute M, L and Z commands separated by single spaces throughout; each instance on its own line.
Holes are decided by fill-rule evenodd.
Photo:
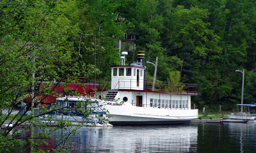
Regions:
M 254 153 L 256 124 L 195 124 L 198 127 L 198 153 Z

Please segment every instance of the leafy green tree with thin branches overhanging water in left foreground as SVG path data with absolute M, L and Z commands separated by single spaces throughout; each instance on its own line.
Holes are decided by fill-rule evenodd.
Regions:
M 89 69 L 85 64 L 81 66 L 77 62 L 79 54 L 75 51 L 74 41 L 69 40 L 79 31 L 76 17 L 70 17 L 72 20 L 69 20 L 65 16 L 70 15 L 69 13 L 62 14 L 67 10 L 63 8 L 64 10 L 58 11 L 62 9 L 61 2 L 47 2 L 38 0 L 0 2 L 0 110 L 8 110 L 7 113 L 0 114 L 0 126 L 10 119 L 16 105 L 24 98 L 31 96 L 32 99 L 26 103 L 28 107 L 26 112 L 33 112 L 47 95 L 55 93 L 54 87 L 64 78 L 67 77 L 67 81 L 72 82 L 81 74 L 94 73 L 93 69 Z M 53 79 L 58 83 L 54 83 Z M 48 83 L 39 87 L 37 82 L 43 81 Z M 59 93 L 55 94 L 60 96 Z M 41 99 L 37 99 L 39 96 Z M 81 104 L 80 111 L 83 110 L 82 105 L 86 104 Z M 0 152 L 13 152 L 26 143 L 32 148 L 36 148 L 41 143 L 47 144 L 45 139 L 51 138 L 50 133 L 64 127 L 66 132 L 69 131 L 62 137 L 66 141 L 79 126 L 71 129 L 70 122 L 56 120 L 58 126 L 47 130 L 46 125 L 37 120 L 38 116 L 60 109 L 62 108 L 52 107 L 51 110 L 42 108 L 38 115 L 31 113 L 29 116 L 24 114 L 12 116 L 13 126 L 0 130 Z M 90 113 L 92 112 L 88 111 L 84 117 Z M 29 122 L 31 127 L 41 126 L 43 130 L 32 134 L 31 137 L 23 138 L 26 141 L 18 136 L 19 131 L 14 131 L 13 136 L 9 134 L 24 122 Z M 51 151 L 66 152 L 66 144 L 59 143 L 58 148 Z M 32 149 L 32 152 L 40 151 L 43 152 Z

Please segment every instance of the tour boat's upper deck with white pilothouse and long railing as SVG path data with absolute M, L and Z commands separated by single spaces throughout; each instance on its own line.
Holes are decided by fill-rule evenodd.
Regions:
M 172 83 L 145 80 L 145 66 L 138 64 L 112 65 L 111 89 L 118 91 L 140 91 L 161 94 L 198 95 L 197 84 Z

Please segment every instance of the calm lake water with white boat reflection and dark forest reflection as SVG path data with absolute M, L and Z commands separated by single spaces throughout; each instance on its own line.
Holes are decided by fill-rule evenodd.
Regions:
M 256 123 L 81 128 L 73 153 L 256 153 Z

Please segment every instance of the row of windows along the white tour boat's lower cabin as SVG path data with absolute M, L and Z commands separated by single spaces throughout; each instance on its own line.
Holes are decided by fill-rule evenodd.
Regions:
M 150 107 L 158 108 L 188 108 L 188 100 L 150 99 Z

